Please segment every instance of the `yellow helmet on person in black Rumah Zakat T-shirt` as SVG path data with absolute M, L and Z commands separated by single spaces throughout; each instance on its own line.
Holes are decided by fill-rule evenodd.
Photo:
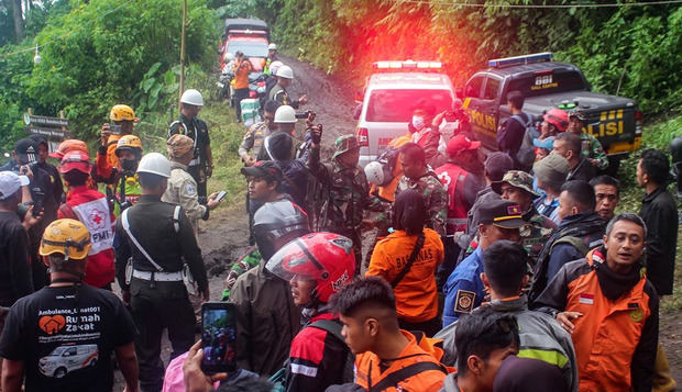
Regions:
M 90 251 L 90 232 L 76 220 L 57 220 L 43 234 L 38 253 L 41 256 L 62 254 L 65 260 L 82 260 Z

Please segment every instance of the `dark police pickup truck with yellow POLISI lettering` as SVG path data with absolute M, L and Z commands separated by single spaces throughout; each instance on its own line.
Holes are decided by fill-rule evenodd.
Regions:
M 615 173 L 619 160 L 641 145 L 642 113 L 635 100 L 592 92 L 580 68 L 554 61 L 553 54 L 546 52 L 492 59 L 464 89 L 457 89 L 470 114 L 472 132 L 486 149 L 497 150 L 497 127 L 512 116 L 506 97 L 514 90 L 526 98 L 524 112 L 530 115 L 561 105 L 582 110 L 587 115 L 583 132 L 602 143 L 609 157 L 609 172 Z

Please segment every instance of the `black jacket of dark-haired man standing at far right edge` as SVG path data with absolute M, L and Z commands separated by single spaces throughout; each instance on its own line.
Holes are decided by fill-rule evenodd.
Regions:
M 639 216 L 647 224 L 647 277 L 659 295 L 672 294 L 678 243 L 678 206 L 660 187 L 641 202 Z

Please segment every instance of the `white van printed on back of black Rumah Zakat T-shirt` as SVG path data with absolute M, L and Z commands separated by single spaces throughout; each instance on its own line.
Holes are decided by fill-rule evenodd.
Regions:
M 59 346 L 41 358 L 38 368 L 41 373 L 61 379 L 74 370 L 95 366 L 98 358 L 97 345 Z

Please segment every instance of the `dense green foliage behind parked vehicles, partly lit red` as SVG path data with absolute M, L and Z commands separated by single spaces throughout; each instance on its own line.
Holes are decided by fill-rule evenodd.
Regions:
M 246 2 L 229 3 L 243 7 Z M 349 74 L 358 87 L 377 59 L 438 58 L 461 85 L 490 58 L 552 51 L 559 59 L 580 66 L 596 91 L 632 97 L 649 114 L 682 105 L 679 5 L 494 7 L 543 3 L 531 0 L 488 0 L 485 8 L 457 7 L 443 0 L 248 3 L 253 5 L 251 13 L 274 25 L 276 40 L 289 53 L 322 69 Z M 271 16 L 273 10 L 276 18 Z

